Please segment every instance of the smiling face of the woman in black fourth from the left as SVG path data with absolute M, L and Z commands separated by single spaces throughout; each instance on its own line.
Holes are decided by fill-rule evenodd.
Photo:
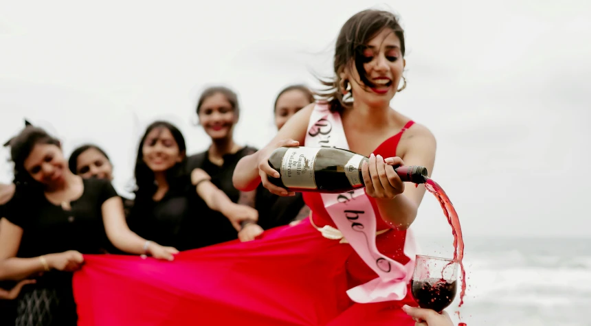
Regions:
M 199 123 L 212 139 L 232 137 L 232 129 L 238 122 L 238 116 L 222 93 L 207 97 L 199 109 Z

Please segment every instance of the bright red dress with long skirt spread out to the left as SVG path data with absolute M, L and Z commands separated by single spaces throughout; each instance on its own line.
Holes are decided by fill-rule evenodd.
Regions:
M 410 127 L 412 121 L 405 126 Z M 403 129 L 404 130 L 404 129 Z M 396 156 L 403 132 L 374 151 Z M 335 226 L 320 194 L 304 194 L 316 226 Z M 377 229 L 389 229 L 377 213 Z M 401 263 L 405 231 L 377 235 L 383 255 Z M 252 242 L 184 251 L 175 261 L 85 255 L 74 275 L 78 325 L 402 325 L 403 301 L 354 303 L 346 290 L 377 275 L 349 244 L 323 237 L 309 219 L 265 231 Z

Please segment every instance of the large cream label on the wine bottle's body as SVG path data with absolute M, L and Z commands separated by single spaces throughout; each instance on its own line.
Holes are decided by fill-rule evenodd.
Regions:
M 322 148 L 289 148 L 281 162 L 281 181 L 285 187 L 316 189 L 314 162 Z

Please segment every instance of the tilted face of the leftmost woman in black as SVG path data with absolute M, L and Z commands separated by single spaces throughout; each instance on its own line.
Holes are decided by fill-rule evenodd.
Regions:
M 65 181 L 67 162 L 61 148 L 52 144 L 34 145 L 23 163 L 34 181 L 49 187 L 61 185 Z

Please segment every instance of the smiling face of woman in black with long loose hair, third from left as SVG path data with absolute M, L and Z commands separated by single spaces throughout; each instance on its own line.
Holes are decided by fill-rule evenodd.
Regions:
M 164 127 L 151 130 L 142 144 L 144 163 L 153 172 L 165 172 L 181 162 L 183 155 L 175 137 L 172 137 L 170 130 Z

